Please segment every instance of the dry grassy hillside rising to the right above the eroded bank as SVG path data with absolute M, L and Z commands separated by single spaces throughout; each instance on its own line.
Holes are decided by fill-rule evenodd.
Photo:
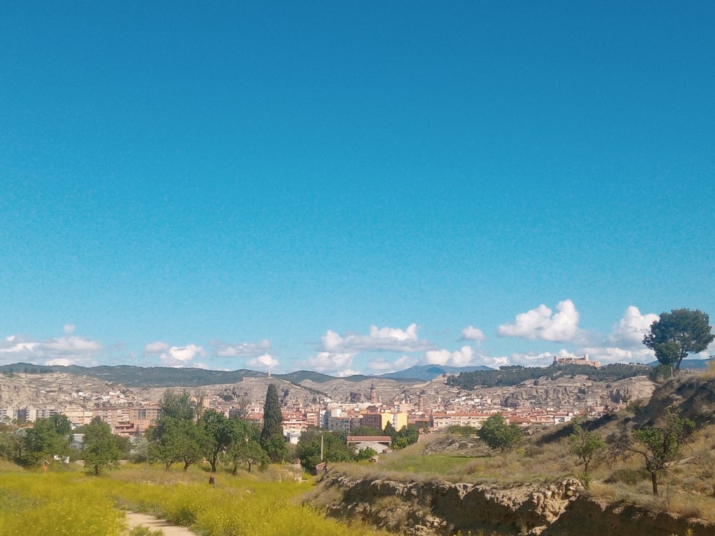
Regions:
M 664 467 L 654 470 L 659 487 L 659 495 L 654 496 L 649 465 L 641 452 L 652 456 L 660 448 L 655 445 L 649 451 L 644 438 L 653 430 L 666 430 L 669 415 L 691 425 L 683 430 L 681 447 L 664 457 Z M 531 432 L 510 451 L 490 450 L 468 433 L 433 435 L 403 451 L 380 456 L 372 465 L 340 465 L 334 471 L 353 482 L 433 485 L 444 480 L 497 490 L 534 490 L 533 486 L 553 486 L 577 477 L 587 488 L 581 490 L 581 497 L 590 497 L 596 504 L 631 505 L 654 516 L 664 512 L 705 523 L 698 525 L 700 531 L 715 530 L 715 379 L 683 374 L 661 384 L 649 401 L 636 401 L 618 414 L 577 423 Z M 579 438 L 594 440 L 593 452 L 584 449 L 588 442 Z M 335 492 L 331 493 L 328 499 L 337 511 Z M 320 502 L 320 496 L 316 500 Z M 404 507 L 405 500 L 396 500 L 390 507 L 397 508 L 397 503 Z M 413 506 L 424 509 L 424 505 Z

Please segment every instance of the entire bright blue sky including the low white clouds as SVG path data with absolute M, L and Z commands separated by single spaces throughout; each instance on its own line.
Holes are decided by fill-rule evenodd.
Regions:
M 643 362 L 715 314 L 715 4 L 145 4 L 0 8 L 0 363 Z

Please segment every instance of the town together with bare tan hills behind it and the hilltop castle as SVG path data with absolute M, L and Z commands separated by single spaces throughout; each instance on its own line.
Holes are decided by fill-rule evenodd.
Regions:
M 597 362 L 570 359 L 568 363 L 598 367 Z M 334 380 L 343 385 L 350 382 Z M 342 383 L 341 383 L 342 382 Z M 595 382 L 580 375 L 556 379 L 542 377 L 513 387 L 461 389 L 446 377 L 421 384 L 365 380 L 327 394 L 270 378 L 246 377 L 236 384 L 191 389 L 193 402 L 226 417 L 242 417 L 262 423 L 265 388 L 275 383 L 282 389 L 282 432 L 297 444 L 309 427 L 340 430 L 401 430 L 414 425 L 425 432 L 454 426 L 479 428 L 491 415 L 501 414 L 520 427 L 548 427 L 573 417 L 599 417 L 638 398 L 649 397 L 654 384 L 644 376 Z M 382 386 L 382 387 L 381 387 Z M 182 387 L 174 389 L 182 390 Z M 14 373 L 0 377 L 0 423 L 31 425 L 38 419 L 62 414 L 73 427 L 101 418 L 115 435 L 141 437 L 162 415 L 159 401 L 166 389 L 125 388 L 91 377 L 70 374 Z

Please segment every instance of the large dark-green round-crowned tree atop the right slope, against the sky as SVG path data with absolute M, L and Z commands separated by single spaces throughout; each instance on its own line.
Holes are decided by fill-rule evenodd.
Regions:
M 643 344 L 656 352 L 661 364 L 680 369 L 688 354 L 703 352 L 715 335 L 711 333 L 708 315 L 699 309 L 673 309 L 663 312 L 651 324 L 651 332 L 643 338 Z

